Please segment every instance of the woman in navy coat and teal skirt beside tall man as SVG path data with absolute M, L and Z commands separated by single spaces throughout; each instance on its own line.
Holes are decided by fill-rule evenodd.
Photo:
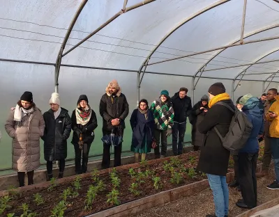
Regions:
M 140 100 L 138 109 L 135 109 L 130 118 L 133 130 L 131 151 L 135 153 L 135 161 L 139 161 L 140 154 L 145 160 L 146 154 L 151 152 L 155 121 L 146 99 Z

